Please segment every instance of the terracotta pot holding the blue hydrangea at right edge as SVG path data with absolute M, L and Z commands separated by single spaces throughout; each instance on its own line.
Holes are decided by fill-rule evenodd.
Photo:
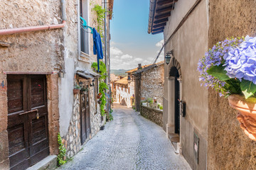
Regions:
M 256 98 L 247 98 L 238 94 L 228 96 L 231 107 L 238 111 L 240 128 L 251 139 L 256 140 Z

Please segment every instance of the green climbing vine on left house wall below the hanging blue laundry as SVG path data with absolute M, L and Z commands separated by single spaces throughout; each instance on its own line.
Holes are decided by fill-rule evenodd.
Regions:
M 97 62 L 92 63 L 92 68 L 97 70 Z M 99 84 L 99 92 L 102 94 L 102 97 L 100 98 L 100 114 L 105 115 L 105 105 L 107 103 L 106 96 L 105 96 L 105 90 L 108 89 L 107 84 L 104 82 L 107 78 L 107 68 L 104 62 L 100 61 L 100 84 Z

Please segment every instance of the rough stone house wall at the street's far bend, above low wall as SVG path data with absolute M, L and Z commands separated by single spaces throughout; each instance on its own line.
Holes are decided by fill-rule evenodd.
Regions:
M 163 105 L 164 96 L 164 64 L 142 72 L 141 97 L 156 97 L 158 103 Z

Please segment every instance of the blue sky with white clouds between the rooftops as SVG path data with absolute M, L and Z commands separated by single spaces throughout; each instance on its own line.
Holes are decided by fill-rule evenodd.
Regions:
M 154 60 L 163 34 L 148 34 L 148 21 L 149 0 L 114 0 L 110 21 L 111 69 L 134 69 L 138 63 L 150 64 Z M 163 56 L 158 61 L 161 60 Z

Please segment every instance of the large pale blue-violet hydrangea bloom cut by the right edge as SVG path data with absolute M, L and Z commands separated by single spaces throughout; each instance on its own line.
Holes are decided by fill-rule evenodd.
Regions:
M 225 71 L 230 78 L 252 81 L 256 84 L 256 37 L 248 35 L 237 48 L 231 49 L 223 56 Z

